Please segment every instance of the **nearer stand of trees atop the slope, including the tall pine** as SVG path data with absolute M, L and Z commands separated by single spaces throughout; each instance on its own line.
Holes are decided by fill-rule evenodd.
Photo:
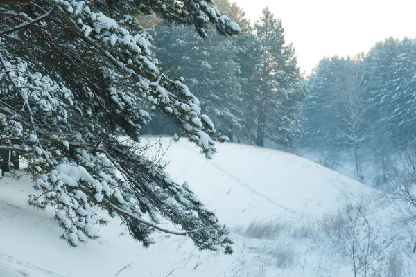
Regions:
M 232 141 L 295 147 L 304 91 L 297 89 L 302 76 L 281 21 L 265 8 L 251 27 L 236 3 L 217 5 L 239 24 L 240 35 L 223 39 L 211 33 L 205 39 L 187 26 L 153 19 L 149 32 L 162 68 L 184 78 L 216 129 Z M 176 131 L 162 115 L 153 118 L 146 134 Z

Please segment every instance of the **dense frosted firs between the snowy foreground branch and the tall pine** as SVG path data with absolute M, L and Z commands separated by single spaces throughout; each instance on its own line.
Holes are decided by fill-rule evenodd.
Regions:
M 154 29 L 154 45 L 157 56 L 163 61 L 163 68 L 180 73 L 187 86 L 201 102 L 202 109 L 214 121 L 218 131 L 231 139 L 254 143 L 252 136 L 254 118 L 248 111 L 255 106 L 254 89 L 240 64 L 250 61 L 246 58 L 244 37 L 250 32 L 250 23 L 244 12 L 228 0 L 216 2 L 243 27 L 243 35 L 224 39 L 211 33 L 201 38 L 186 26 L 168 26 L 160 22 Z M 248 67 L 253 67 L 250 64 Z M 244 64 L 245 65 L 245 64 Z M 153 126 L 150 129 L 154 133 Z M 166 127 L 162 127 L 162 133 Z

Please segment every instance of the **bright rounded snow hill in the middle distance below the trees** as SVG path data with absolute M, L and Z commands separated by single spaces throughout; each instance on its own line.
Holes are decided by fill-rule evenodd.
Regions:
M 168 145 L 167 140 L 164 145 Z M 348 177 L 287 152 L 235 143 L 219 144 L 217 149 L 214 159 L 207 161 L 186 141 L 175 143 L 166 153 L 171 160 L 167 171 L 178 182 L 188 181 L 205 203 L 211 199 L 222 202 L 218 197 L 240 198 L 241 201 L 233 203 L 234 213 L 226 208 L 218 211 L 225 222 L 240 217 L 244 220 L 276 217 L 281 213 L 323 215 L 345 199 L 373 192 Z M 195 164 L 204 166 L 196 171 L 190 167 Z M 201 180 L 200 175 L 209 179 Z M 229 191 L 227 196 L 225 191 Z M 253 202 L 252 206 L 247 206 L 248 202 Z M 270 209 L 274 211 L 270 213 Z

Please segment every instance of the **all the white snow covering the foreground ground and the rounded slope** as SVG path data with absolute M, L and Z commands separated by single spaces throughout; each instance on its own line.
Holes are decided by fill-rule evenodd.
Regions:
M 163 159 L 232 229 L 232 256 L 163 233 L 144 249 L 117 220 L 101 227 L 101 238 L 71 248 L 50 211 L 26 205 L 29 177 L 9 176 L 0 179 L 0 277 L 354 276 L 343 253 L 328 250 L 319 222 L 346 204 L 373 203 L 375 190 L 294 154 L 233 143 L 218 145 L 209 161 L 181 140 Z

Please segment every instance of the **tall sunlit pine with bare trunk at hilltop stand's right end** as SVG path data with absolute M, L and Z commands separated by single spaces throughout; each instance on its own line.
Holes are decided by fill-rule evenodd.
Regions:
M 300 100 L 294 93 L 300 82 L 295 51 L 286 44 L 281 21 L 263 9 L 254 24 L 257 41 L 257 91 L 259 108 L 256 144 L 273 141 L 293 147 L 300 137 Z M 298 91 L 300 93 L 300 91 Z

